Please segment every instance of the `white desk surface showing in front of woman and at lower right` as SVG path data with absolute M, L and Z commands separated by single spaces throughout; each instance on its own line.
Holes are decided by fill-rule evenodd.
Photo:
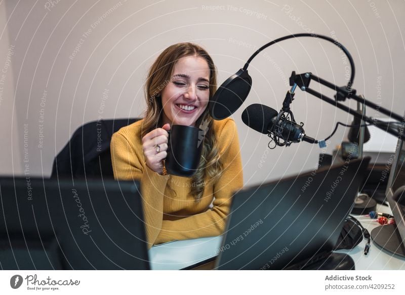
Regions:
M 378 205 L 378 212 L 391 213 L 388 206 Z M 356 216 L 369 232 L 380 226 L 376 219 Z M 175 241 L 152 247 L 149 250 L 152 270 L 179 270 L 199 262 L 212 259 L 221 246 L 222 237 L 209 237 L 193 240 Z M 366 240 L 363 239 L 354 249 L 337 252 L 349 254 L 356 270 L 405 270 L 405 259 L 393 256 L 377 247 L 373 242 L 368 255 L 363 254 Z

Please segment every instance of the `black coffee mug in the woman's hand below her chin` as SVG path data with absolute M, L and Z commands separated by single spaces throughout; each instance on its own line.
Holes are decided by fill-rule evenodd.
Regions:
M 198 127 L 172 125 L 168 133 L 167 172 L 183 177 L 193 176 L 203 151 L 204 131 Z

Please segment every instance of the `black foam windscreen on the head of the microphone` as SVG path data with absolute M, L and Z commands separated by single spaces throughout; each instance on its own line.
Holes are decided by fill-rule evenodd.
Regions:
M 257 132 L 268 134 L 269 127 L 273 125 L 272 119 L 278 113 L 274 108 L 260 103 L 249 105 L 242 113 L 242 121 Z

